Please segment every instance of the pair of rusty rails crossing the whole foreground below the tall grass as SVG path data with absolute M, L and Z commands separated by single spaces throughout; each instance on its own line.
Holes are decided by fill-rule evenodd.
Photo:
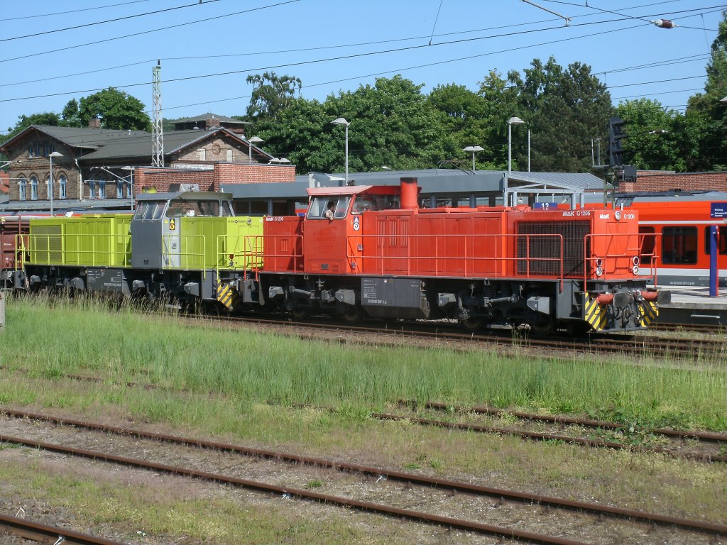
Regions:
M 6 411 L 7 414 L 9 414 Z M 425 487 L 436 489 L 438 491 L 452 491 L 457 493 L 465 493 L 468 496 L 481 496 L 483 498 L 495 498 L 499 503 L 502 501 L 514 504 L 536 504 L 546 508 L 555 508 L 563 512 L 579 513 L 577 516 L 595 517 L 614 517 L 621 520 L 629 520 L 632 523 L 648 525 L 658 525 L 671 528 L 680 528 L 688 532 L 702 533 L 712 536 L 727 536 L 727 525 L 705 522 L 703 520 L 691 520 L 680 517 L 670 517 L 662 514 L 641 512 L 634 509 L 624 509 L 616 506 L 608 506 L 603 504 L 590 503 L 585 501 L 574 501 L 569 499 L 555 498 L 552 496 L 544 496 L 534 493 L 523 493 L 521 491 L 511 491 L 503 488 L 491 488 L 472 483 L 459 482 L 455 480 L 446 480 L 437 477 L 427 477 L 407 472 L 388 471 L 379 467 L 367 467 L 358 464 L 348 464 L 327 459 L 315 458 L 310 456 L 295 456 L 281 451 L 268 451 L 257 448 L 246 448 L 241 445 L 232 445 L 228 443 L 215 443 L 212 441 L 198 440 L 190 437 L 179 437 L 175 435 L 163 435 L 150 432 L 142 432 L 121 427 L 110 427 L 103 424 L 93 422 L 74 421 L 71 419 L 55 419 L 52 416 L 39 415 L 34 413 L 20 413 L 13 411 L 12 416 L 25 417 L 28 419 L 41 419 L 49 423 L 63 424 L 67 426 L 90 429 L 94 432 L 104 432 L 107 434 L 124 435 L 134 437 L 135 440 L 153 440 L 165 443 L 174 443 L 175 445 L 193 446 L 197 448 L 213 449 L 215 451 L 225 451 L 228 453 L 239 454 L 243 456 L 254 456 L 256 458 L 269 459 L 276 463 L 287 463 L 300 465 L 313 465 L 332 469 L 337 472 L 356 473 L 367 477 L 376 477 L 379 480 L 388 480 L 403 483 L 404 491 L 411 486 Z M 284 498 L 298 498 L 318 503 L 342 506 L 348 509 L 355 509 L 362 512 L 372 512 L 383 514 L 388 517 L 403 518 L 414 522 L 422 522 L 430 525 L 440 525 L 458 530 L 465 530 L 475 533 L 481 533 L 503 538 L 514 538 L 521 541 L 540 544 L 559 544 L 572 545 L 579 543 L 572 541 L 563 536 L 546 536 L 540 533 L 532 533 L 515 528 L 505 528 L 497 525 L 487 525 L 477 520 L 468 520 L 457 517 L 448 517 L 439 514 L 432 514 L 422 511 L 414 511 L 404 509 L 401 506 L 391 506 L 389 504 L 381 504 L 374 501 L 361 501 L 353 498 L 335 496 L 331 494 L 317 493 L 303 488 L 294 488 L 283 485 L 271 485 L 257 480 L 243 479 L 239 477 L 230 477 L 221 475 L 217 472 L 206 472 L 198 469 L 189 469 L 178 465 L 163 464 L 155 461 L 147 461 L 135 459 L 129 456 L 118 456 L 113 453 L 106 453 L 97 450 L 88 450 L 85 448 L 68 447 L 57 443 L 49 443 L 48 441 L 39 441 L 16 437 L 12 435 L 0 435 L 0 442 L 15 443 L 17 445 L 25 445 L 29 448 L 43 449 L 55 453 L 62 453 L 65 456 L 73 456 L 84 459 L 93 459 L 96 461 L 104 461 L 113 464 L 122 464 L 127 467 L 137 469 L 145 469 L 153 472 L 166 473 L 170 475 L 180 475 L 184 477 L 192 477 L 200 480 L 211 481 L 214 483 L 225 483 L 252 491 L 264 492 Z

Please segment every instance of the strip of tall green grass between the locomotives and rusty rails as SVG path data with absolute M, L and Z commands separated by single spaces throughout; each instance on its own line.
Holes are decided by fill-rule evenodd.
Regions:
M 86 373 L 150 382 L 243 404 L 311 403 L 363 414 L 404 397 L 727 429 L 724 366 L 350 347 L 190 325 L 174 315 L 139 315 L 130 305 L 109 310 L 89 299 L 9 299 L 0 365 L 46 379 Z M 7 391 L 2 397 L 23 401 L 9 399 Z M 163 413 L 162 399 L 157 410 Z

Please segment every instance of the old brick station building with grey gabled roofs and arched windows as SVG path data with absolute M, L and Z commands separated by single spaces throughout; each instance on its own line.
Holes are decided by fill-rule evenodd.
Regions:
M 152 187 L 168 190 L 175 183 L 219 190 L 222 181 L 294 179 L 294 166 L 269 164 L 273 157 L 246 140 L 239 130 L 244 129 L 244 124 L 238 124 L 238 132 L 214 126 L 214 121 L 209 129 L 166 132 L 166 168 L 162 169 L 146 168 L 152 151 L 152 136 L 148 132 L 29 126 L 0 145 L 9 159 L 9 200 L 3 209 L 49 209 L 50 156 L 54 152 L 60 153 L 52 160 L 52 196 L 58 210 L 125 208 L 132 194 Z

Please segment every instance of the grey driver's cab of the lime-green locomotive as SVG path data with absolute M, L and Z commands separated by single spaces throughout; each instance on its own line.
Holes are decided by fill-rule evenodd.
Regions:
M 132 267 L 180 267 L 182 247 L 189 242 L 185 218 L 234 216 L 229 193 L 145 193 L 131 223 Z

